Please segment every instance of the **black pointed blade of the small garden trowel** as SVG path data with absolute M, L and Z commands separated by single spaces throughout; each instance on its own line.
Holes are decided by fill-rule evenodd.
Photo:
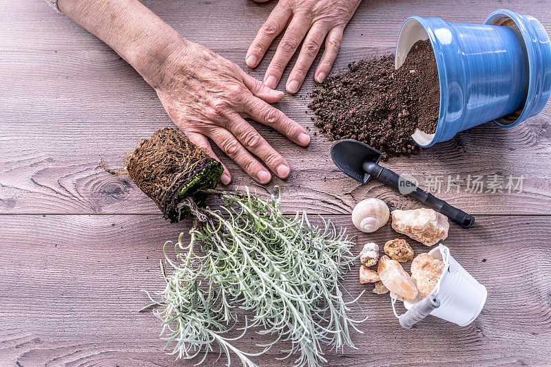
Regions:
M 382 153 L 357 140 L 343 139 L 331 146 L 331 158 L 337 167 L 353 179 L 366 183 L 371 177 L 362 168 L 364 162 L 379 163 Z

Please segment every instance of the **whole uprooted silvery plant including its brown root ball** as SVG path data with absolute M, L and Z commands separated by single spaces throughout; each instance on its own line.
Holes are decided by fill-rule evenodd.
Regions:
M 219 351 L 228 365 L 236 355 L 244 366 L 256 366 L 254 357 L 281 342 L 295 366 L 317 366 L 326 362 L 324 345 L 354 347 L 350 331 L 363 320 L 347 314 L 357 298 L 343 297 L 342 276 L 354 260 L 344 230 L 323 219 L 313 225 L 306 214 L 285 216 L 281 193 L 261 199 L 248 188 L 214 190 L 222 164 L 174 129 L 142 140 L 125 164 L 122 172 L 104 168 L 129 175 L 165 218 L 194 219 L 189 243 L 182 234 L 165 243 L 166 287 L 149 297 L 169 353 L 198 357 L 200 364 Z M 222 199 L 217 210 L 205 207 L 209 194 Z M 172 246 L 175 257 L 167 252 Z M 234 329 L 238 335 L 230 337 Z M 248 329 L 270 342 L 256 353 L 242 351 L 236 340 Z

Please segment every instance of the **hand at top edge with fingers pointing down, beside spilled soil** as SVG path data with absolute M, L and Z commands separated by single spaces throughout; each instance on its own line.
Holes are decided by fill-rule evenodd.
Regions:
M 325 50 L 314 74 L 315 81 L 322 82 L 339 52 L 344 27 L 349 23 L 360 1 L 280 0 L 249 47 L 245 63 L 249 67 L 256 67 L 275 37 L 287 27 L 266 71 L 264 83 L 272 89 L 278 85 L 287 63 L 304 40 L 285 86 L 289 93 L 298 92 L 325 39 Z

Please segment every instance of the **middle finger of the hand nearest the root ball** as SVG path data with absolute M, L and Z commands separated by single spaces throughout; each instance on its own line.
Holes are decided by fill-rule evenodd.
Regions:
M 228 130 L 233 133 L 245 148 L 253 155 L 256 155 L 270 170 L 282 179 L 286 179 L 291 172 L 289 164 L 285 159 L 271 147 L 270 144 L 240 115 L 231 116 L 229 119 L 231 128 Z

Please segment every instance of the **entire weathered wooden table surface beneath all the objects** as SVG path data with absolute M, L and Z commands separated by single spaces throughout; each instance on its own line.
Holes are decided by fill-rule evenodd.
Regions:
M 242 67 L 274 6 L 250 0 L 145 4 L 184 36 Z M 127 177 L 92 173 L 100 157 L 120 166 L 124 153 L 171 121 L 132 67 L 44 1 L 3 0 L 1 8 L 0 366 L 191 366 L 163 353 L 160 323 L 152 313 L 137 313 L 147 304 L 140 290 L 163 285 L 162 244 L 187 232 L 189 221 L 164 221 Z M 499 8 L 531 14 L 551 33 L 548 1 L 364 0 L 346 28 L 334 69 L 392 52 L 407 16 L 482 23 Z M 268 63 L 264 59 L 251 75 L 262 78 Z M 305 111 L 313 84 L 312 70 L 300 93 L 278 104 L 312 133 L 317 129 Z M 354 313 L 368 320 L 364 333 L 353 335 L 357 350 L 328 352 L 328 366 L 551 364 L 550 118 L 548 105 L 514 129 L 485 124 L 418 156 L 386 162 L 413 174 L 422 186 L 442 181 L 439 196 L 476 216 L 470 230 L 452 223 L 445 244 L 486 285 L 488 300 L 469 326 L 431 317 L 406 331 L 388 296 L 358 284 L 354 269 L 344 283 L 353 295 L 367 290 L 362 310 Z M 306 210 L 349 227 L 357 235 L 355 254 L 366 242 L 405 238 L 390 224 L 361 234 L 349 213 L 366 197 L 383 199 L 391 209 L 417 208 L 415 201 L 340 173 L 329 157 L 331 142 L 320 133 L 300 148 L 257 127 L 291 164 L 291 176 L 256 186 L 220 155 L 233 172 L 233 185 L 261 193 L 282 186 L 289 212 Z M 459 189 L 447 190 L 450 175 L 464 180 Z M 469 177 L 477 176 L 486 185 L 483 192 L 467 188 Z M 491 181 L 499 177 L 503 192 L 492 192 Z M 521 190 L 509 193 L 508 177 L 523 177 Z M 428 250 L 419 243 L 413 247 L 416 253 Z M 262 338 L 250 333 L 238 346 L 248 351 L 258 342 Z M 274 349 L 256 361 L 291 365 L 275 359 L 281 355 Z M 220 365 L 216 357 L 207 366 Z

